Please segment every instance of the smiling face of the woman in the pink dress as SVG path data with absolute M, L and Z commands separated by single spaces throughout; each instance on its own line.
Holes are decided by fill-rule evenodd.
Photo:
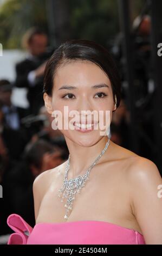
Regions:
M 51 97 L 44 94 L 44 101 L 50 114 L 56 110 L 62 113 L 61 120 L 59 118 L 57 120 L 62 121 L 62 129 L 60 130 L 63 135 L 71 141 L 84 146 L 95 144 L 100 139 L 100 132 L 104 131 L 101 130 L 103 128 L 100 129 L 101 121 L 103 121 L 103 125 L 106 125 L 105 111 L 110 114 L 108 115 L 109 120 L 107 119 L 109 121 L 107 125 L 109 126 L 112 120 L 112 111 L 115 110 L 109 78 L 98 65 L 86 60 L 74 60 L 60 66 L 54 77 L 53 94 Z M 68 109 L 68 119 L 66 116 L 66 120 L 64 119 L 65 106 Z M 72 113 L 72 111 L 76 111 L 76 115 L 69 117 L 69 113 Z M 86 112 L 82 111 L 88 112 L 86 114 Z M 95 111 L 95 115 L 93 111 Z M 99 111 L 103 115 L 101 114 L 100 116 Z M 98 116 L 96 116 L 96 113 L 98 113 Z M 75 123 L 74 117 L 76 118 Z M 90 123 L 92 125 L 88 131 L 85 131 L 87 128 L 85 126 L 78 128 L 79 123 L 83 123 L 81 120 L 83 117 L 85 117 L 83 120 L 86 121 L 86 124 Z M 102 117 L 103 119 L 101 120 L 100 118 Z M 67 124 L 67 120 L 71 123 L 73 130 L 69 128 L 67 130 L 63 129 L 64 124 Z M 95 125 L 93 126 L 94 123 Z

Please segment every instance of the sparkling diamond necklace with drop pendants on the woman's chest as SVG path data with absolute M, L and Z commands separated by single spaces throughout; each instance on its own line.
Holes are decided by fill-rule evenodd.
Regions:
M 105 145 L 105 148 L 101 151 L 100 155 L 96 157 L 95 161 L 88 168 L 86 174 L 84 174 L 83 176 L 78 176 L 77 178 L 68 180 L 67 176 L 68 176 L 68 171 L 70 166 L 69 164 L 70 154 L 69 154 L 68 161 L 66 164 L 63 186 L 59 189 L 59 194 L 58 194 L 59 197 L 62 196 L 61 202 L 63 202 L 63 198 L 67 198 L 67 203 L 64 205 L 66 208 L 66 214 L 64 215 L 64 218 L 66 220 L 69 217 L 69 211 L 72 210 L 75 194 L 80 193 L 81 188 L 85 186 L 86 181 L 89 179 L 88 177 L 89 177 L 90 170 L 95 166 L 95 164 L 99 161 L 100 157 L 105 153 L 106 149 L 108 148 L 108 145 L 109 145 L 109 138 Z

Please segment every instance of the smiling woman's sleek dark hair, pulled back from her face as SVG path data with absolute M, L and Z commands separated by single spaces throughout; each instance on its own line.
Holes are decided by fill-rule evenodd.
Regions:
M 43 93 L 47 93 L 49 96 L 52 95 L 54 75 L 57 68 L 61 64 L 72 60 L 89 60 L 106 73 L 111 81 L 114 102 L 116 95 L 116 107 L 118 107 L 121 99 L 121 83 L 116 65 L 105 47 L 90 40 L 69 40 L 56 48 L 44 71 Z

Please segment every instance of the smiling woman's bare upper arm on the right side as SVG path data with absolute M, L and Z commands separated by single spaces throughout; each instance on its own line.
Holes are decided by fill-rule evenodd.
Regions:
M 129 172 L 134 216 L 142 230 L 146 244 L 162 244 L 162 179 L 157 166 L 139 157 Z

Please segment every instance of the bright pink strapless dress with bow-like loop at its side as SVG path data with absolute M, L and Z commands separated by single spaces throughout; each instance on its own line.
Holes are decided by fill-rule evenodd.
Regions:
M 8 245 L 145 245 L 138 231 L 105 221 L 37 223 L 32 228 L 11 214 L 7 223 L 15 231 Z

